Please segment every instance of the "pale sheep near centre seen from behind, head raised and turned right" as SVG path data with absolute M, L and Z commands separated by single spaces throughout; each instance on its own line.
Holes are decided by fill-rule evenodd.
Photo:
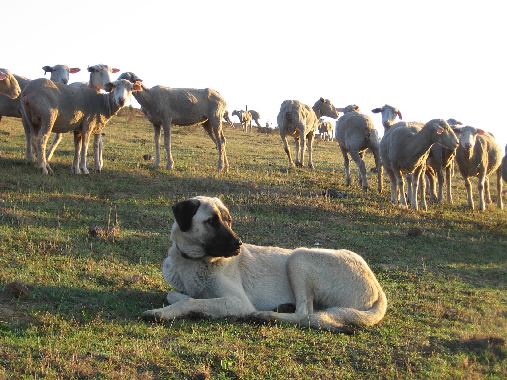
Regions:
M 303 167 L 305 158 L 306 140 L 308 140 L 308 167 L 313 166 L 313 138 L 318 127 L 318 120 L 322 116 L 333 119 L 338 118 L 338 112 L 329 99 L 320 98 L 313 107 L 297 100 L 285 100 L 280 106 L 277 116 L 278 131 L 283 141 L 289 166 Z M 288 147 L 287 136 L 294 137 L 296 145 L 296 164 L 292 161 L 291 150 Z

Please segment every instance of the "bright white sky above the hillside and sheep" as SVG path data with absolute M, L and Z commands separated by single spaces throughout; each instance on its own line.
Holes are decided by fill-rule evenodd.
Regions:
M 147 87 L 213 88 L 230 111 L 259 111 L 262 124 L 276 125 L 286 99 L 311 106 L 322 96 L 359 105 L 382 133 L 371 109 L 388 103 L 406 121 L 455 118 L 485 129 L 503 149 L 506 4 L 9 2 L 9 14 L 24 16 L 3 17 L 0 66 L 34 79 L 63 63 L 81 68 L 70 76 L 77 82 L 88 81 L 87 65 L 105 63 Z

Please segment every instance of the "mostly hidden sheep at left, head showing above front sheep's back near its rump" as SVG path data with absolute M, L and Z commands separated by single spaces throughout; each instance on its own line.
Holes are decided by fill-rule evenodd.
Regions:
M 56 65 L 61 67 L 68 67 L 66 65 Z M 53 67 L 56 67 L 53 66 Z M 48 66 L 49 67 L 49 66 Z M 69 69 L 70 70 L 70 69 Z M 19 84 L 21 91 L 30 83 L 29 79 L 21 77 L 20 75 L 13 74 L 14 78 Z M 64 79 L 68 80 L 68 72 L 66 70 L 56 70 L 55 73 L 51 73 L 51 79 L 56 82 L 62 82 Z M 21 102 L 19 97 L 16 99 L 11 99 L 8 96 L 0 94 L 0 122 L 2 121 L 3 116 L 9 116 L 12 118 L 20 118 L 21 120 Z M 31 135 L 30 135 L 30 127 L 23 123 L 23 129 L 25 132 L 26 139 L 26 160 L 28 162 L 34 162 L 32 151 L 31 151 Z

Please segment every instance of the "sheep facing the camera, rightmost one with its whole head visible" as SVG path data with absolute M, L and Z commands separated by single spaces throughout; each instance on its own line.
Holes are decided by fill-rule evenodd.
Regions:
M 465 181 L 468 207 L 474 209 L 472 185 L 470 184 L 469 177 L 479 176 L 477 183 L 479 210 L 483 211 L 486 209 L 486 203 L 491 203 L 488 176 L 496 171 L 497 206 L 499 209 L 502 209 L 500 168 L 502 151 L 495 137 L 491 133 L 484 132 L 482 129 L 470 126 L 454 127 L 453 131 L 456 132 L 459 139 L 459 146 L 456 150 L 456 162 L 458 163 L 459 172 Z

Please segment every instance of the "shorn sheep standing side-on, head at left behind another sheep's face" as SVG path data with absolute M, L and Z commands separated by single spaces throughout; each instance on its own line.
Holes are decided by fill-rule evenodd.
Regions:
M 167 170 L 172 170 L 174 161 L 171 155 L 171 125 L 202 125 L 219 153 L 217 171 L 227 173 L 229 162 L 226 154 L 226 139 L 222 130 L 222 118 L 226 102 L 215 90 L 173 89 L 155 86 L 144 87 L 142 81 L 132 72 L 124 72 L 120 79 L 131 83 L 139 82 L 140 91 L 134 92 L 135 99 L 142 107 L 144 115 L 153 124 L 155 130 L 154 168 L 160 166 L 160 128 L 164 130 L 164 147 L 167 155 Z

